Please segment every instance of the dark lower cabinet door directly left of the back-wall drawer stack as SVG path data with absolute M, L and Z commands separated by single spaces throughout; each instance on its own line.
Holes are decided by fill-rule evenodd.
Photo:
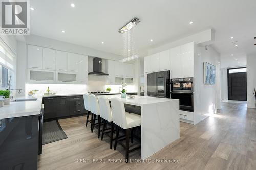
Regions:
M 57 97 L 57 117 L 69 116 L 69 96 Z

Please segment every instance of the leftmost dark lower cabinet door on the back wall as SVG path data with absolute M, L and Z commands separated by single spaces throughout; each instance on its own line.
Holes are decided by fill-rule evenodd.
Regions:
M 57 117 L 57 98 L 44 98 L 44 119 Z

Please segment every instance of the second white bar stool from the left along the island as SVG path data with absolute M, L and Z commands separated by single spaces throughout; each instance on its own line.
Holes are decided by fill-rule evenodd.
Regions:
M 100 136 L 100 125 L 101 125 L 99 102 L 98 102 L 98 98 L 93 94 L 90 95 L 90 105 L 91 105 L 91 107 L 90 107 L 91 112 L 92 112 L 92 114 L 94 114 L 91 131 L 93 132 L 94 127 L 97 128 L 98 129 L 98 138 L 99 138 L 99 136 Z M 98 124 L 95 124 L 96 116 L 98 116 Z M 97 127 L 97 125 L 98 125 L 98 127 Z

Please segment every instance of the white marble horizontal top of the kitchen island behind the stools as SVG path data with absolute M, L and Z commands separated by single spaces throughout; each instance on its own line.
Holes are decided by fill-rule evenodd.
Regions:
M 169 99 L 169 98 L 155 98 L 155 97 L 148 97 L 148 96 L 137 96 L 135 95 L 134 98 L 121 98 L 121 95 L 101 95 L 106 96 L 109 100 L 111 98 L 119 98 L 125 104 L 135 105 L 135 106 L 143 106 L 146 104 L 155 104 L 155 103 L 162 103 L 168 101 L 177 101 L 178 99 Z M 100 98 L 100 96 L 98 96 Z

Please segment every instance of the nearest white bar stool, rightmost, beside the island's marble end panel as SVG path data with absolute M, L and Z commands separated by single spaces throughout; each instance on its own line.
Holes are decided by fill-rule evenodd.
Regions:
M 116 150 L 117 143 L 121 144 L 122 147 L 125 148 L 125 162 L 128 163 L 129 152 L 132 152 L 140 148 L 140 147 L 135 147 L 132 150 L 129 150 L 129 136 L 133 128 L 141 126 L 141 116 L 134 113 L 125 114 L 123 101 L 119 98 L 111 99 L 111 108 L 112 108 L 113 122 L 114 124 L 117 125 L 114 150 Z M 121 142 L 121 139 L 118 140 L 120 128 L 125 130 L 125 140 L 126 140 L 125 145 Z M 131 134 L 131 136 L 132 136 L 132 143 L 133 143 L 133 134 Z

